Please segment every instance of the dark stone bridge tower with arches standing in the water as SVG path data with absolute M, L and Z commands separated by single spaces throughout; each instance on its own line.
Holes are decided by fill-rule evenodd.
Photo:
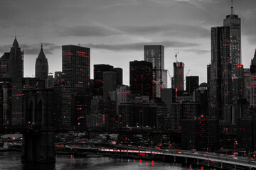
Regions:
M 22 162 L 55 162 L 53 104 L 53 90 L 24 92 Z

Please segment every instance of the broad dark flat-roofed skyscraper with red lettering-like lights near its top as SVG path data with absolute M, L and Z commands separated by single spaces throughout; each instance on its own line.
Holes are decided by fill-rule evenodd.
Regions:
M 72 91 L 87 92 L 90 84 L 90 48 L 63 45 L 63 79 Z

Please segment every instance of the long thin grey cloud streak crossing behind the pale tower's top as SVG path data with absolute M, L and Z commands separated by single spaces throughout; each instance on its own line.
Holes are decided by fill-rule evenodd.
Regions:
M 103 50 L 113 51 L 129 51 L 129 50 L 143 50 L 144 45 L 164 45 L 165 47 L 196 47 L 199 46 L 192 42 L 178 42 L 178 41 L 161 41 L 161 42 L 137 42 L 117 45 L 107 44 L 85 44 L 85 47 L 98 48 Z

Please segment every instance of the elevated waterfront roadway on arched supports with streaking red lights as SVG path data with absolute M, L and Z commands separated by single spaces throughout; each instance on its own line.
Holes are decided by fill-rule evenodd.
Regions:
M 64 147 L 63 145 L 56 145 L 55 147 Z M 156 149 L 156 148 L 149 148 L 149 147 L 136 147 L 136 146 L 115 146 L 114 148 L 105 148 L 105 147 L 69 147 L 65 146 L 66 149 L 73 149 L 75 150 L 86 150 L 86 152 L 91 152 L 95 154 L 127 154 L 134 153 L 134 154 L 156 154 L 161 157 L 174 157 L 174 162 L 176 157 L 183 157 L 186 159 L 197 159 L 197 164 L 199 160 L 207 161 L 208 166 L 210 162 L 218 162 L 221 164 L 221 168 L 223 164 L 230 164 L 233 166 L 233 169 L 236 169 L 236 166 L 244 166 L 248 169 L 256 169 L 256 160 L 248 157 L 235 157 L 235 155 L 227 155 L 227 154 L 218 154 L 214 152 L 196 152 L 196 151 L 189 151 L 189 150 L 178 150 L 178 149 Z

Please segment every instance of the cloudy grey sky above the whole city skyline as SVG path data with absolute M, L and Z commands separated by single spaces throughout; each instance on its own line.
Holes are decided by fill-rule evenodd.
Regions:
M 144 60 L 144 45 L 165 46 L 165 69 L 173 77 L 175 53 L 185 63 L 185 76 L 206 81 L 210 64 L 210 28 L 223 26 L 230 0 L 1 0 L 0 55 L 9 52 L 16 30 L 25 51 L 25 77 L 34 77 L 41 42 L 49 72 L 61 71 L 61 45 L 91 49 L 93 64 L 124 69 L 129 85 L 129 62 Z M 242 21 L 242 64 L 250 66 L 256 48 L 256 1 L 234 0 Z M 170 80 L 168 80 L 170 85 Z

